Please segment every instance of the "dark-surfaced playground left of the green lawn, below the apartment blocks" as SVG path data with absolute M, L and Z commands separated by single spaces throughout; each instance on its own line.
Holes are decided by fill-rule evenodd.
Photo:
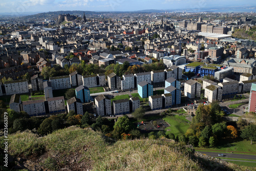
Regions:
M 152 131 L 164 131 L 166 127 L 170 126 L 162 118 L 154 119 L 150 121 L 137 122 L 137 129 L 143 133 L 150 133 Z

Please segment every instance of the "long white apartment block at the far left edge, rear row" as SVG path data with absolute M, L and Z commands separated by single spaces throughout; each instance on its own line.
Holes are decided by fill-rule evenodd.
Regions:
M 29 92 L 27 79 L 6 81 L 4 83 L 4 87 L 5 87 L 6 95 L 21 94 L 21 93 Z

